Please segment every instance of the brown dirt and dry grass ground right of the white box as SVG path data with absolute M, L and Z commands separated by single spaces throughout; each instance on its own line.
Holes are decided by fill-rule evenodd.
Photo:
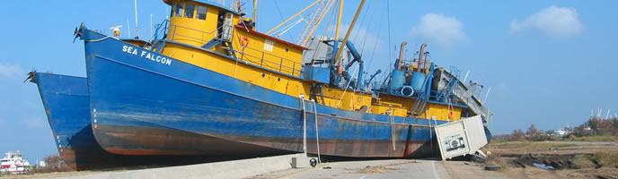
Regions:
M 483 150 L 509 178 L 618 179 L 616 141 L 508 141 Z

